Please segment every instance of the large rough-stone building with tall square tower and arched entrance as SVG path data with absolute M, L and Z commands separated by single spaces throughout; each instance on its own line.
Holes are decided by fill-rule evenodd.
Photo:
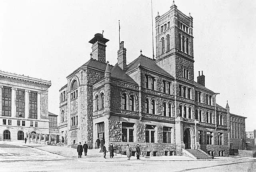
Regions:
M 97 138 L 125 146 L 140 144 L 144 156 L 229 155 L 229 112 L 216 103 L 199 72 L 194 81 L 193 18 L 175 4 L 156 16 L 156 59 L 142 55 L 126 63 L 120 43 L 117 64 L 106 63 L 106 43 L 95 34 L 90 60 L 76 69 L 60 89 L 63 142 Z M 233 114 L 229 114 L 232 116 Z

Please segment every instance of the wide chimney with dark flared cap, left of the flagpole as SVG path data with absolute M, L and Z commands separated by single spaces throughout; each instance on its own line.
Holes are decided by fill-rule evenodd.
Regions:
M 92 58 L 99 62 L 106 63 L 106 42 L 109 40 L 103 38 L 103 34 L 95 34 L 89 42 L 92 44 Z

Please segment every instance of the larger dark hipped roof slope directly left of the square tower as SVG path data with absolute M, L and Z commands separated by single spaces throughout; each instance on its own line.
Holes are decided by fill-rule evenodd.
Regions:
M 144 68 L 148 68 L 151 70 L 154 70 L 156 72 L 159 72 L 161 74 L 164 74 L 166 76 L 169 76 L 170 78 L 174 78 L 172 75 L 170 75 L 168 72 L 166 72 L 165 70 L 163 70 L 162 68 L 160 68 L 154 60 L 152 60 L 151 58 L 148 58 L 146 56 L 143 56 L 142 54 L 136 58 L 133 62 L 131 62 L 128 65 L 128 69 L 126 71 L 132 70 L 134 68 L 138 67 L 138 64 L 140 64 L 141 66 L 143 66 Z

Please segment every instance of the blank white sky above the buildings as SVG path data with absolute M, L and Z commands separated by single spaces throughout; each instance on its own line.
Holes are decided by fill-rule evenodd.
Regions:
M 172 0 L 153 0 L 153 16 Z M 256 129 L 256 1 L 176 0 L 194 18 L 194 73 L 203 70 L 217 102 L 246 116 Z M 49 111 L 59 114 L 66 76 L 90 59 L 94 34 L 109 39 L 106 60 L 117 62 L 118 20 L 127 61 L 152 58 L 150 0 L 0 0 L 0 70 L 51 80 Z M 155 23 L 154 23 L 155 26 Z M 154 28 L 155 32 L 155 28 Z M 155 44 L 155 43 L 154 43 Z M 155 46 L 154 46 L 155 47 Z

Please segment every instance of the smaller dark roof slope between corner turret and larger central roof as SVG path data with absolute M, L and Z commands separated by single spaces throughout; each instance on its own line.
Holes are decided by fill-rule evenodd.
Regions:
M 111 77 L 117 78 L 119 80 L 122 80 L 124 82 L 129 82 L 131 84 L 138 85 L 137 82 L 135 82 L 128 74 L 125 73 L 124 70 L 122 70 L 118 64 L 116 64 L 111 70 Z

